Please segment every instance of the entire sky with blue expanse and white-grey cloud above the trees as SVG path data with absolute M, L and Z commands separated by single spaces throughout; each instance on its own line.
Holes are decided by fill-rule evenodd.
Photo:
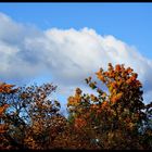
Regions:
M 0 79 L 58 85 L 66 103 L 107 63 L 139 74 L 152 93 L 152 3 L 0 3 Z

